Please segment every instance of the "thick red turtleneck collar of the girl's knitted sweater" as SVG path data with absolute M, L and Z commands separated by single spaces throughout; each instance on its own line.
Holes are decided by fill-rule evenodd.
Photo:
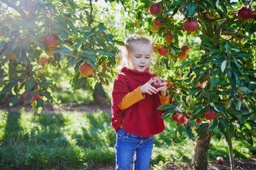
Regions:
M 146 69 L 145 71 L 135 71 L 133 69 L 129 69 L 127 67 L 123 67 L 121 69 L 121 72 L 125 73 L 125 75 L 128 75 L 129 77 L 141 81 L 141 82 L 148 82 L 151 78 L 150 71 Z

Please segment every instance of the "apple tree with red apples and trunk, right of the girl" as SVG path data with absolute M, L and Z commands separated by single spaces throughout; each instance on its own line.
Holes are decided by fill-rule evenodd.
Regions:
M 255 1 L 131 1 L 131 32 L 150 34 L 154 72 L 166 77 L 172 103 L 163 118 L 177 133 L 194 139 L 193 169 L 207 169 L 213 130 L 226 138 L 234 169 L 231 137 L 253 144 L 256 118 Z

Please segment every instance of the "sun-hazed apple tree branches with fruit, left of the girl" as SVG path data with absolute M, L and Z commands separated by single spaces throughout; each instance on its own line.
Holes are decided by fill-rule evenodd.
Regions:
M 52 93 L 54 80 L 46 74 L 49 67 L 74 69 L 74 89 L 83 87 L 88 79 L 108 85 L 118 48 L 96 17 L 94 3 L 1 1 L 1 103 L 8 98 L 10 106 L 32 103 L 34 112 L 40 112 L 44 101 L 57 101 Z

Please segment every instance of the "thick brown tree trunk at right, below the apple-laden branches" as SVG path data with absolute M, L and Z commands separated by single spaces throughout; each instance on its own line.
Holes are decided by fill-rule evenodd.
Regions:
M 210 146 L 212 131 L 205 130 L 201 136 L 195 139 L 193 151 L 193 170 L 207 169 L 207 151 Z

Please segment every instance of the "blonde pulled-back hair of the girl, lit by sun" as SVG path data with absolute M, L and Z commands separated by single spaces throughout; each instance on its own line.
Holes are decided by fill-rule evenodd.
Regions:
M 121 58 L 121 64 L 117 67 L 117 69 L 120 71 L 122 67 L 129 67 L 128 57 L 129 53 L 133 50 L 132 46 L 136 44 L 150 44 L 150 39 L 146 38 L 145 36 L 140 36 L 137 34 L 132 34 L 131 36 L 127 37 L 125 39 L 125 45 L 123 46 L 123 50 L 121 50 L 121 53 L 118 57 Z

